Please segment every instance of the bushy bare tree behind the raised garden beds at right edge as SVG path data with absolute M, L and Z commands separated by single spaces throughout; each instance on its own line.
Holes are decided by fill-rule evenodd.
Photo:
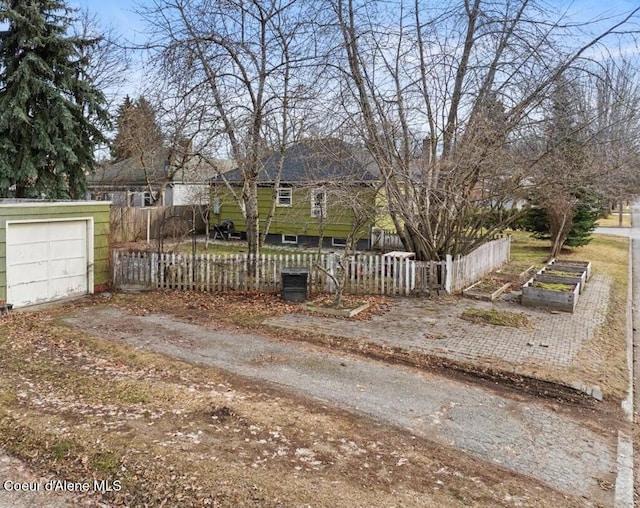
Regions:
M 552 257 L 570 233 L 570 244 L 588 241 L 588 226 L 595 226 L 608 196 L 637 192 L 640 95 L 630 69 L 624 61 L 607 60 L 591 74 L 567 73 L 545 101 L 547 112 L 528 152 L 537 157 L 531 197 L 544 210 L 544 223 L 535 220 L 538 210 L 531 212 L 532 225 L 548 232 Z

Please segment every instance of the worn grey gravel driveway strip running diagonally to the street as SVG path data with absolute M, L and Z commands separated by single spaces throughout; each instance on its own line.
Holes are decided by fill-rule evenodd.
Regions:
M 94 336 L 218 367 L 326 401 L 539 479 L 585 504 L 613 504 L 614 433 L 552 404 L 417 369 L 116 308 L 67 319 Z

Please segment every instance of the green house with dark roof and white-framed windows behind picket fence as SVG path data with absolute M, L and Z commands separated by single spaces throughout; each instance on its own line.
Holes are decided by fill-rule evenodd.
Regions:
M 378 168 L 362 149 L 337 139 L 301 141 L 261 161 L 258 175 L 260 230 L 275 200 L 266 242 L 343 247 L 357 230 L 357 248 L 369 247 L 376 220 Z M 278 170 L 280 181 L 277 182 Z M 242 174 L 233 170 L 213 180 L 212 224 L 232 221 L 246 238 L 242 210 L 229 187 L 241 195 Z M 354 199 L 357 197 L 358 202 Z M 365 220 L 362 220 L 365 214 Z

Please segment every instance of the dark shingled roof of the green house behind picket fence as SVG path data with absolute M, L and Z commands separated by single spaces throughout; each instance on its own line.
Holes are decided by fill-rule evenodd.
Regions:
M 260 161 L 258 182 L 274 182 L 282 165 L 281 182 L 372 181 L 378 167 L 362 149 L 335 138 L 305 140 L 282 154 L 274 152 Z M 225 175 L 230 182 L 242 181 L 240 169 Z

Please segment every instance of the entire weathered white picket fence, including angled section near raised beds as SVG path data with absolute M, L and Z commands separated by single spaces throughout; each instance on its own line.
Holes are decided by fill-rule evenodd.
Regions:
M 345 292 L 370 295 L 453 293 L 509 260 L 510 238 L 494 240 L 468 256 L 445 261 L 414 261 L 380 254 L 358 254 L 344 262 Z M 306 268 L 312 293 L 330 292 L 337 254 L 158 254 L 113 253 L 113 285 L 122 289 L 281 291 L 284 268 Z

